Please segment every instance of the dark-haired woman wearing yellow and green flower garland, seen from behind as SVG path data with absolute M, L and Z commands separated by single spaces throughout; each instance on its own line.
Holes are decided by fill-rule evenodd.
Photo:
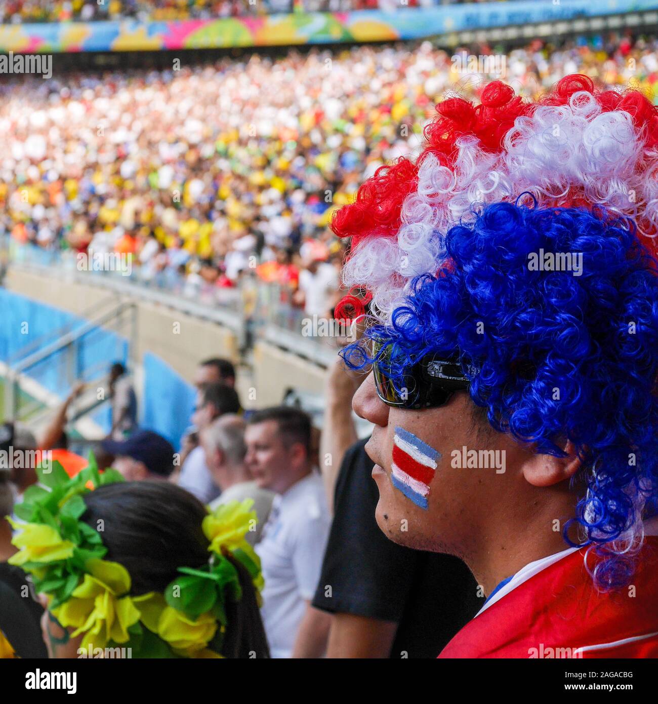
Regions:
M 10 562 L 44 603 L 51 658 L 269 657 L 248 501 L 213 513 L 165 482 L 54 463 L 15 507 Z

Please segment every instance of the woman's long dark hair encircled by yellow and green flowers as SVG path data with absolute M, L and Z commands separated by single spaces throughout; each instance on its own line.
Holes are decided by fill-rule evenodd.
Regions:
M 103 522 L 106 560 L 119 562 L 130 574 L 131 594 L 163 592 L 179 577 L 179 567 L 203 567 L 208 539 L 201 522 L 207 515 L 201 501 L 168 482 L 118 482 L 84 496 L 82 520 L 98 530 Z M 240 575 L 242 598 L 227 604 L 225 658 L 269 658 L 256 590 L 248 572 L 231 560 Z

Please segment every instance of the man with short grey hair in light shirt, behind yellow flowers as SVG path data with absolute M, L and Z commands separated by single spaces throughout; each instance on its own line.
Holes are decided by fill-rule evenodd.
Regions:
M 222 491 L 215 501 L 210 502 L 210 508 L 214 510 L 229 501 L 242 502 L 251 498 L 258 522 L 245 537 L 255 545 L 260 541 L 262 528 L 272 510 L 274 493 L 260 489 L 244 465 L 247 451 L 244 444 L 245 427 L 246 423 L 239 415 L 222 415 L 201 432 L 201 446 L 210 475 Z

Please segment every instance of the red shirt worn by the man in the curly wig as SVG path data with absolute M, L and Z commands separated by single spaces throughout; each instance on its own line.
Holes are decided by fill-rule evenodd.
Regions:
M 595 589 L 585 552 L 521 570 L 510 587 L 521 573 L 531 576 L 503 587 L 439 658 L 658 658 L 658 536 L 645 538 L 631 586 L 619 591 Z

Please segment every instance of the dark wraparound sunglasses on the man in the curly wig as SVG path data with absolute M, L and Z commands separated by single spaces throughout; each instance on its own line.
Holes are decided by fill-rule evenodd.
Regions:
M 445 359 L 437 354 L 426 355 L 407 367 L 400 382 L 394 383 L 382 368 L 390 362 L 391 343 L 373 340 L 372 351 L 377 396 L 386 406 L 410 410 L 440 408 L 450 401 L 455 391 L 464 391 L 471 383 L 457 359 Z M 479 369 L 469 367 L 469 373 L 477 375 Z

